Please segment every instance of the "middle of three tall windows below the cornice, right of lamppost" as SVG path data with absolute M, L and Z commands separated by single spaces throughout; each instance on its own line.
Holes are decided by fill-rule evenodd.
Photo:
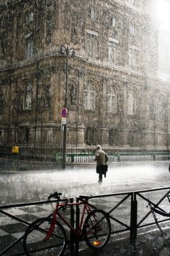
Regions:
M 111 113 L 117 112 L 117 94 L 113 87 L 107 89 L 107 111 Z

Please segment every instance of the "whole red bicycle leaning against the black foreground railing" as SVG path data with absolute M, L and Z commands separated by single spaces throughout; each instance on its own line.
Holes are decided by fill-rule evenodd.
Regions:
M 46 218 L 39 218 L 28 227 L 24 234 L 24 252 L 29 255 L 64 255 L 67 246 L 67 236 L 61 219 L 74 235 L 76 240 L 85 240 L 86 244 L 94 249 L 103 248 L 110 237 L 111 224 L 108 214 L 103 210 L 91 210 L 88 199 L 91 197 L 80 196 L 79 202 L 72 203 L 70 199 L 61 199 L 61 193 L 55 192 L 48 199 L 56 199 L 54 211 Z M 61 214 L 71 205 L 83 205 L 80 224 L 74 229 Z M 86 216 L 87 214 L 87 216 Z

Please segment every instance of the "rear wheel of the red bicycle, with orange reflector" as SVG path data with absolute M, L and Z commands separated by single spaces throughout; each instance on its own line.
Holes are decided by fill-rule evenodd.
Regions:
M 103 248 L 111 233 L 109 216 L 103 210 L 92 210 L 86 216 L 83 231 L 84 240 L 90 248 L 94 250 Z

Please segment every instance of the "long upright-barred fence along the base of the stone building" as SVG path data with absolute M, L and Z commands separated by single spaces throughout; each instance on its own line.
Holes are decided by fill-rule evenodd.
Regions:
M 105 150 L 105 149 L 104 149 Z M 106 149 L 109 162 L 147 162 L 155 160 L 170 160 L 170 151 L 167 150 L 117 150 Z M 0 158 L 14 158 L 19 160 L 37 160 L 62 163 L 61 149 L 56 147 L 26 147 L 19 146 L 17 153 L 12 153 L 12 146 L 0 146 Z M 95 149 L 67 149 L 66 162 L 92 163 L 95 158 Z

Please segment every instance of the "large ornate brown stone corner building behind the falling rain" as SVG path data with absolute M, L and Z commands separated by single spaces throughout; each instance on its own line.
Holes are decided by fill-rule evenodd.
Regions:
M 150 2 L 1 0 L 1 145 L 62 147 L 66 93 L 67 147 L 167 150 Z

